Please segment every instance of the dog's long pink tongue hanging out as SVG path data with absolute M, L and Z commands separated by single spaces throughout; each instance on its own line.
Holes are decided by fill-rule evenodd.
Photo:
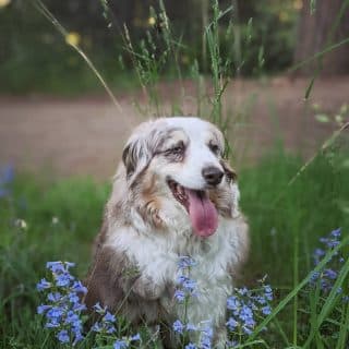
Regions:
M 212 236 L 218 227 L 217 209 L 204 192 L 185 189 L 189 197 L 189 216 L 200 237 Z

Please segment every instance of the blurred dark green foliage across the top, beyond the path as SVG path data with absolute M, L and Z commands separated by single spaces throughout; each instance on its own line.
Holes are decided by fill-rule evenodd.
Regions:
M 202 73 L 208 72 L 205 63 L 207 53 L 203 51 L 202 40 L 202 4 L 195 0 L 191 2 L 192 4 L 188 4 L 183 0 L 166 3 L 172 36 L 179 37 L 185 48 L 178 55 L 177 63 L 186 76 L 195 61 Z M 229 74 L 255 75 L 289 67 L 299 1 L 236 3 L 238 8 L 232 9 L 219 23 L 219 33 L 229 32 L 228 36 L 221 38 L 221 51 L 232 62 Z M 161 11 L 160 2 L 124 1 L 117 4 L 113 1 L 96 0 L 86 3 L 74 0 L 68 5 L 65 2 L 46 0 L 48 9 L 70 32 L 67 43 L 33 4 L 34 0 L 12 0 L 5 7 L 0 7 L 0 29 L 1 33 L 7 33 L 0 38 L 0 46 L 3 48 L 0 52 L 0 92 L 82 94 L 100 91 L 83 60 L 65 45 L 70 38 L 74 43 L 77 38 L 77 43 L 92 57 L 101 74 L 109 77 L 111 86 L 120 89 L 134 87 L 136 76 L 131 75 L 133 82 L 132 79 L 130 81 L 133 63 L 122 38 L 123 23 L 134 40 L 146 41 L 151 33 L 157 38 L 156 51 L 165 51 L 166 44 L 160 43 L 164 23 L 154 16 Z M 103 4 L 108 5 L 109 14 Z M 221 9 L 227 9 L 231 1 L 220 1 L 219 4 Z M 188 12 L 188 5 L 197 8 L 197 11 Z M 208 17 L 213 16 L 212 4 L 205 11 Z M 122 63 L 119 57 L 122 57 Z M 172 75 L 172 65 L 166 67 L 165 75 Z

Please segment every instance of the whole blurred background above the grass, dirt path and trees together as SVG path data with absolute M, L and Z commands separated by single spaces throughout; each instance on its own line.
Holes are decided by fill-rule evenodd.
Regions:
M 224 101 L 239 119 L 239 131 L 231 135 L 239 166 L 253 163 L 276 140 L 311 155 L 337 127 L 334 117 L 348 116 L 348 9 L 341 0 L 312 2 L 219 1 L 222 10 L 233 9 L 219 21 L 219 48 L 229 60 Z M 181 47 L 176 63 L 166 58 L 156 77 L 143 79 L 145 86 L 156 85 L 157 109 L 149 107 L 140 84 L 124 28 L 137 47 L 152 36 L 154 59 L 159 59 L 166 48 L 157 17 L 160 2 L 45 1 L 59 25 L 37 1 L 2 0 L 0 5 L 1 164 L 106 179 L 136 123 L 157 115 L 197 113 L 196 63 L 212 94 L 204 37 L 213 15 L 208 0 L 164 2 Z M 89 57 L 121 108 L 69 44 Z M 297 65 L 306 59 L 311 61 Z

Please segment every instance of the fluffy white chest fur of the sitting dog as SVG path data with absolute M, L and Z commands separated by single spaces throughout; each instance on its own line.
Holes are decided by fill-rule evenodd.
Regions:
M 196 296 L 191 297 L 186 306 L 186 321 L 197 324 L 212 321 L 214 326 L 225 318 L 226 301 L 232 292 L 229 269 L 238 262 L 239 234 L 236 219 L 220 218 L 218 230 L 209 238 L 197 238 L 191 232 L 176 233 L 176 239 L 159 233 L 139 234 L 133 229 L 122 229 L 108 245 L 128 255 L 144 279 L 152 280 L 155 289 L 180 288 L 178 277 L 179 257 L 191 256 L 195 266 L 183 273 L 195 280 Z M 238 220 L 237 220 L 238 221 Z M 173 292 L 163 292 L 161 305 L 172 318 L 182 318 L 183 306 L 173 298 Z

